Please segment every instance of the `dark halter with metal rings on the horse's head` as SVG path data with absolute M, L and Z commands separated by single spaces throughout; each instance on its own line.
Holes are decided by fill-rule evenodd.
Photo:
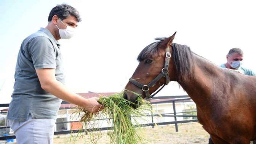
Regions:
M 172 45 L 172 46 L 174 46 L 174 45 Z M 141 88 L 142 91 L 144 91 L 144 93 L 146 94 L 147 99 L 153 98 L 155 96 L 155 94 L 157 94 L 160 90 L 163 89 L 163 87 L 168 85 L 168 83 L 170 82 L 170 77 L 169 77 L 169 73 L 168 73 L 169 72 L 168 67 L 169 67 L 170 58 L 171 58 L 171 53 L 170 53 L 170 50 L 169 50 L 169 46 L 167 46 L 166 47 L 166 54 L 165 54 L 165 66 L 162 69 L 162 72 L 160 72 L 160 74 L 157 75 L 157 77 L 155 77 L 147 85 L 143 85 L 142 83 L 139 83 L 138 81 L 134 80 L 133 78 L 130 78 L 129 82 L 131 82 L 134 85 L 136 85 L 139 88 Z M 160 80 L 162 77 L 165 77 L 165 79 L 166 79 L 165 84 L 157 92 L 155 92 L 153 95 L 150 96 L 149 88 L 153 87 L 155 85 L 155 83 L 157 83 L 158 80 Z

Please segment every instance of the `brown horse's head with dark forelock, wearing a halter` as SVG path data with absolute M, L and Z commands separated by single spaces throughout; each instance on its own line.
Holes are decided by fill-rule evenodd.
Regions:
M 177 70 L 172 58 L 175 34 L 168 38 L 157 38 L 159 42 L 151 43 L 141 51 L 139 65 L 125 87 L 125 99 L 136 103 L 138 94 L 142 98 L 149 97 L 160 86 L 176 80 Z

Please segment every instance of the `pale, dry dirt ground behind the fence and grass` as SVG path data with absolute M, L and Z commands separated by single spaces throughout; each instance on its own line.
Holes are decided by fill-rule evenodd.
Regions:
M 147 141 L 144 144 L 208 144 L 209 134 L 199 123 L 178 124 L 179 132 L 175 132 L 174 125 L 142 128 L 143 136 Z M 55 136 L 54 144 L 90 144 L 88 136 L 70 141 L 70 135 Z M 106 133 L 103 133 L 98 144 L 110 144 Z

